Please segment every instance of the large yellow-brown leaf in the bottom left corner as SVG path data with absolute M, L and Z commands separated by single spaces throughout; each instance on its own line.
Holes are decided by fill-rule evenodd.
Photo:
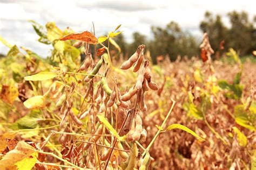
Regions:
M 38 153 L 35 148 L 24 141 L 19 141 L 15 149 L 9 151 L 0 160 L 0 166 L 3 169 L 32 169 L 37 157 Z

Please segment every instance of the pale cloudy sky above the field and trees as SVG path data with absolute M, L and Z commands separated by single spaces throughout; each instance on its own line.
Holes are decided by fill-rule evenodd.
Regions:
M 120 30 L 131 41 L 134 31 L 150 37 L 150 26 L 164 27 L 171 20 L 183 30 L 200 37 L 199 23 L 204 19 L 206 10 L 222 15 L 228 25 L 227 12 L 244 10 L 252 17 L 256 15 L 255 6 L 254 0 L 0 0 L 0 35 L 11 44 L 46 56 L 51 46 L 37 42 L 38 36 L 28 22 L 30 19 L 42 25 L 49 21 L 56 22 L 60 29 L 70 26 L 76 32 L 90 31 L 91 22 L 94 22 L 96 37 L 122 24 Z M 0 53 L 6 52 L 8 48 L 0 42 Z

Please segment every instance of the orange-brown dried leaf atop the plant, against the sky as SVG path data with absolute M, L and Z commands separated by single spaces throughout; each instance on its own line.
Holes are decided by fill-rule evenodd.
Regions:
M 78 33 L 72 33 L 69 34 L 68 36 L 65 36 L 60 39 L 61 41 L 65 40 L 80 40 L 87 42 L 89 44 L 97 44 L 98 39 L 89 31 L 83 31 L 83 32 L 78 32 Z

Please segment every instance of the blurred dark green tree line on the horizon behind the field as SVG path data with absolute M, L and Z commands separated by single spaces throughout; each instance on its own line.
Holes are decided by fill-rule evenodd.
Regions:
M 251 54 L 256 49 L 256 16 L 249 19 L 246 12 L 233 11 L 227 13 L 231 26 L 227 27 L 220 15 L 205 12 L 205 18 L 200 22 L 201 32 L 207 32 L 210 43 L 215 52 L 220 52 L 220 42 L 225 40 L 224 50 L 234 48 L 241 56 Z M 178 55 L 189 58 L 199 54 L 200 38 L 183 31 L 176 22 L 170 22 L 165 27 L 152 26 L 153 37 L 148 39 L 138 32 L 133 33 L 133 41 L 127 43 L 122 34 L 115 38 L 125 57 L 131 56 L 138 45 L 145 44 L 151 52 L 151 57 L 156 62 L 158 55 L 169 55 L 171 60 L 176 60 Z M 199 40 L 199 41 L 198 41 Z

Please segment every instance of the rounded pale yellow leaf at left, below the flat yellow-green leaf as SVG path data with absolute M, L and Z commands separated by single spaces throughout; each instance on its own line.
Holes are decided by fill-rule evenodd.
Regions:
M 28 109 L 39 109 L 45 107 L 45 98 L 44 96 L 34 96 L 26 100 L 24 103 Z

